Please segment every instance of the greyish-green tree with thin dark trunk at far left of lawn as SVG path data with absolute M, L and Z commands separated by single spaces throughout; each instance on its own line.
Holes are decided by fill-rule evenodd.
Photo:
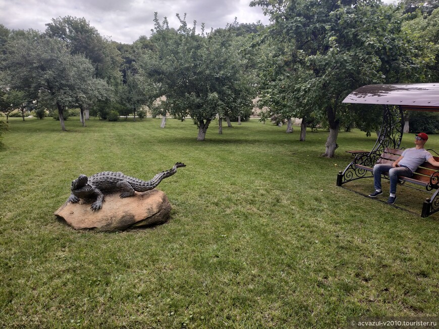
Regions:
M 103 94 L 106 84 L 94 78 L 94 69 L 83 55 L 69 52 L 66 44 L 28 31 L 8 43 L 4 68 L 8 85 L 37 99 L 44 94 L 56 105 L 59 116 L 67 106 L 85 106 Z M 65 130 L 64 120 L 61 128 Z

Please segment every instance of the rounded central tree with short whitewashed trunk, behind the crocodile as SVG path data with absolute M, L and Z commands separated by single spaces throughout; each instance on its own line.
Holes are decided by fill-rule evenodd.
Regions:
M 198 139 L 204 140 L 216 114 L 237 116 L 251 108 L 252 84 L 243 74 L 244 59 L 233 33 L 205 34 L 202 25 L 201 34 L 196 34 L 195 24 L 190 28 L 185 16 L 177 18 L 181 25 L 174 30 L 167 19 L 160 23 L 155 13 L 151 41 L 157 51 L 145 55 L 140 67 L 166 95 L 161 109 L 192 117 L 200 129 Z

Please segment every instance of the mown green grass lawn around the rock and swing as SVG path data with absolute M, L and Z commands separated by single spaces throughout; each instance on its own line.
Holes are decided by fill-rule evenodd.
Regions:
M 363 132 L 340 133 L 328 159 L 326 131 L 299 142 L 299 127 L 257 120 L 224 135 L 212 123 L 204 142 L 190 119 L 69 118 L 68 132 L 20 120 L 0 150 L 0 327 L 327 328 L 438 314 L 439 215 L 336 186 L 344 151 L 374 145 Z M 427 146 L 439 150 L 439 136 Z M 158 186 L 167 224 L 95 233 L 53 216 L 81 173 L 148 180 L 178 161 L 187 167 Z M 420 214 L 426 194 L 399 187 L 398 198 Z

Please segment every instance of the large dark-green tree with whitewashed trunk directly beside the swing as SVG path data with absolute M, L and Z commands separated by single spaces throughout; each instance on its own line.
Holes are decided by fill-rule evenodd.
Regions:
M 274 61 L 266 65 L 262 99 L 280 109 L 297 107 L 304 117 L 324 116 L 330 127 L 324 156 L 334 156 L 340 125 L 349 124 L 342 101 L 352 90 L 425 78 L 423 48 L 401 32 L 394 6 L 379 0 L 255 0 L 251 6 L 263 7 L 273 22 L 265 40 L 276 55 L 267 55 Z

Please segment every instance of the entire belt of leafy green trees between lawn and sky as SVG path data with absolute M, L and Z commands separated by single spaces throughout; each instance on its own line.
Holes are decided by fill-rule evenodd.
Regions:
M 154 116 L 192 117 L 204 140 L 215 117 L 222 129 L 223 118 L 248 116 L 257 90 L 271 114 L 303 119 L 301 141 L 307 124 L 328 127 L 323 155 L 333 157 L 340 127 L 370 134 L 380 120 L 378 111 L 342 103 L 352 90 L 439 78 L 438 4 L 254 0 L 269 26 L 235 19 L 210 32 L 201 24 L 198 33 L 185 15 L 175 29 L 156 13 L 151 37 L 133 44 L 103 38 L 85 18 L 54 18 L 44 33 L 0 25 L 2 97 L 52 102 L 62 129 L 66 107 L 83 114 L 94 106 L 104 118 L 111 110 L 136 116 L 147 105 Z

